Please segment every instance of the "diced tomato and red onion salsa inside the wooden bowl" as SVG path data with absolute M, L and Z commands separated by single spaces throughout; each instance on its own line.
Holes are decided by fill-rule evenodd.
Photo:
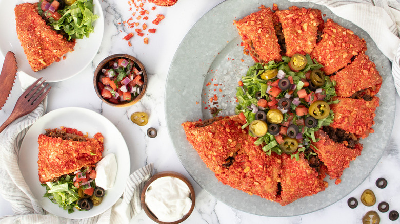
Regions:
M 144 78 L 139 66 L 128 58 L 118 57 L 101 71 L 97 87 L 102 97 L 111 103 L 130 102 L 142 91 Z

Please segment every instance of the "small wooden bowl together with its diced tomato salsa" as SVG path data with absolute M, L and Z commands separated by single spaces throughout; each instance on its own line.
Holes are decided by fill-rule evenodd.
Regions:
M 108 105 L 132 106 L 147 89 L 145 66 L 128 54 L 110 55 L 97 65 L 93 86 L 97 96 Z

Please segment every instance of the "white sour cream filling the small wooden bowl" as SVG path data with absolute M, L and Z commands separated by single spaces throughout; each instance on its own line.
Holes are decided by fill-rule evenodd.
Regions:
M 147 188 L 145 203 L 159 221 L 173 222 L 189 212 L 192 205 L 189 195 L 185 182 L 165 176 L 153 181 Z

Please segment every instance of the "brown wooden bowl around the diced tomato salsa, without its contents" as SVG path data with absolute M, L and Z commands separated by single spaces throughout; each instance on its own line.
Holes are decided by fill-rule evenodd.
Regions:
M 97 83 L 100 81 L 100 76 L 102 75 L 102 69 L 104 68 L 104 66 L 106 64 L 108 64 L 109 61 L 114 60 L 115 58 L 127 58 L 132 60 L 133 62 L 135 62 L 140 70 L 142 71 L 142 75 L 143 75 L 143 86 L 141 89 L 141 93 L 136 96 L 136 98 L 134 98 L 132 101 L 130 102 L 120 102 L 118 104 L 110 102 L 106 99 L 103 98 L 101 91 L 99 90 Z M 147 73 L 146 73 L 146 69 L 145 66 L 142 64 L 142 62 L 140 62 L 137 58 L 128 55 L 128 54 L 114 54 L 114 55 L 110 55 L 108 57 L 106 57 L 104 60 L 102 60 L 98 65 L 96 70 L 94 71 L 94 77 L 93 77 L 93 86 L 94 86 L 94 90 L 96 91 L 97 96 L 105 103 L 107 103 L 108 105 L 111 106 L 115 106 L 115 107 L 127 107 L 127 106 L 132 106 L 133 104 L 137 103 L 139 100 L 142 99 L 142 97 L 145 95 L 146 93 L 146 89 L 147 89 Z

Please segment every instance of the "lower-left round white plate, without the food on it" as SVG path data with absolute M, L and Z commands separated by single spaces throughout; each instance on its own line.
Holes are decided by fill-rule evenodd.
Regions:
M 89 211 L 77 211 L 68 214 L 68 211 L 53 204 L 48 198 L 43 197 L 46 188 L 41 185 L 38 178 L 38 143 L 39 134 L 45 133 L 45 129 L 59 128 L 61 126 L 76 128 L 83 133 L 88 133 L 93 138 L 95 133 L 101 132 L 104 136 L 103 156 L 114 153 L 118 164 L 115 184 L 106 190 L 106 195 L 100 205 L 94 206 Z M 124 192 L 125 183 L 130 172 L 130 159 L 128 147 L 121 132 L 105 117 L 92 110 L 66 107 L 56 109 L 45 114 L 34 123 L 26 133 L 19 151 L 19 168 L 33 195 L 40 205 L 48 212 L 70 219 L 83 219 L 96 216 L 109 209 L 116 203 Z

